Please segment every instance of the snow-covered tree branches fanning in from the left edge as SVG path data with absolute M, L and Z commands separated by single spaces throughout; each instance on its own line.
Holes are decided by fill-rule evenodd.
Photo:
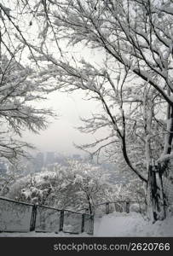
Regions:
M 0 82 L 0 156 L 9 160 L 23 155 L 27 143 L 14 139 L 28 129 L 37 132 L 47 127 L 49 109 L 39 109 L 33 102 L 42 98 L 43 86 L 31 76 L 32 70 L 22 67 L 14 58 L 2 56 Z

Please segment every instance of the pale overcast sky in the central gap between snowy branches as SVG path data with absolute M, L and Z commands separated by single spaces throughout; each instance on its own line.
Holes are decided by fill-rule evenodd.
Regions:
M 72 94 L 54 92 L 49 96 L 48 102 L 43 102 L 46 108 L 53 108 L 60 114 L 58 119 L 52 119 L 52 123 L 46 131 L 40 131 L 39 135 L 24 132 L 23 140 L 34 144 L 38 150 L 56 151 L 62 154 L 83 154 L 73 146 L 73 143 L 89 143 L 95 137 L 105 137 L 107 131 L 99 131 L 94 135 L 79 132 L 75 126 L 81 125 L 79 116 L 89 117 L 90 113 L 100 111 L 98 102 L 84 101 L 84 93 L 76 91 Z

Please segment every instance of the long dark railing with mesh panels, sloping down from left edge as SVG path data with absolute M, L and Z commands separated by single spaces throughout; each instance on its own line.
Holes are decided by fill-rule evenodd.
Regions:
M 93 235 L 94 217 L 0 197 L 0 232 L 55 232 Z

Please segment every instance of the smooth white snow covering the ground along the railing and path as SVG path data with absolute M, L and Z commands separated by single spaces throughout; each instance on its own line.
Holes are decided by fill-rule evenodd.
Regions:
M 55 233 L 0 233 L 4 236 L 89 236 L 85 233 L 71 235 L 60 232 Z M 136 212 L 120 213 L 113 212 L 102 218 L 95 218 L 94 236 L 173 236 L 173 217 L 164 221 L 157 221 L 155 224 L 144 219 Z

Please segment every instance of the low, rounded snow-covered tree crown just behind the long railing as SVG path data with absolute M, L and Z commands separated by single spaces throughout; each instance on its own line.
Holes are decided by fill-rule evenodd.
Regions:
M 99 166 L 67 160 L 66 166 L 54 164 L 42 172 L 18 179 L 7 196 L 58 208 L 80 209 L 108 200 L 109 184 Z M 110 193 L 109 193 L 110 195 Z

